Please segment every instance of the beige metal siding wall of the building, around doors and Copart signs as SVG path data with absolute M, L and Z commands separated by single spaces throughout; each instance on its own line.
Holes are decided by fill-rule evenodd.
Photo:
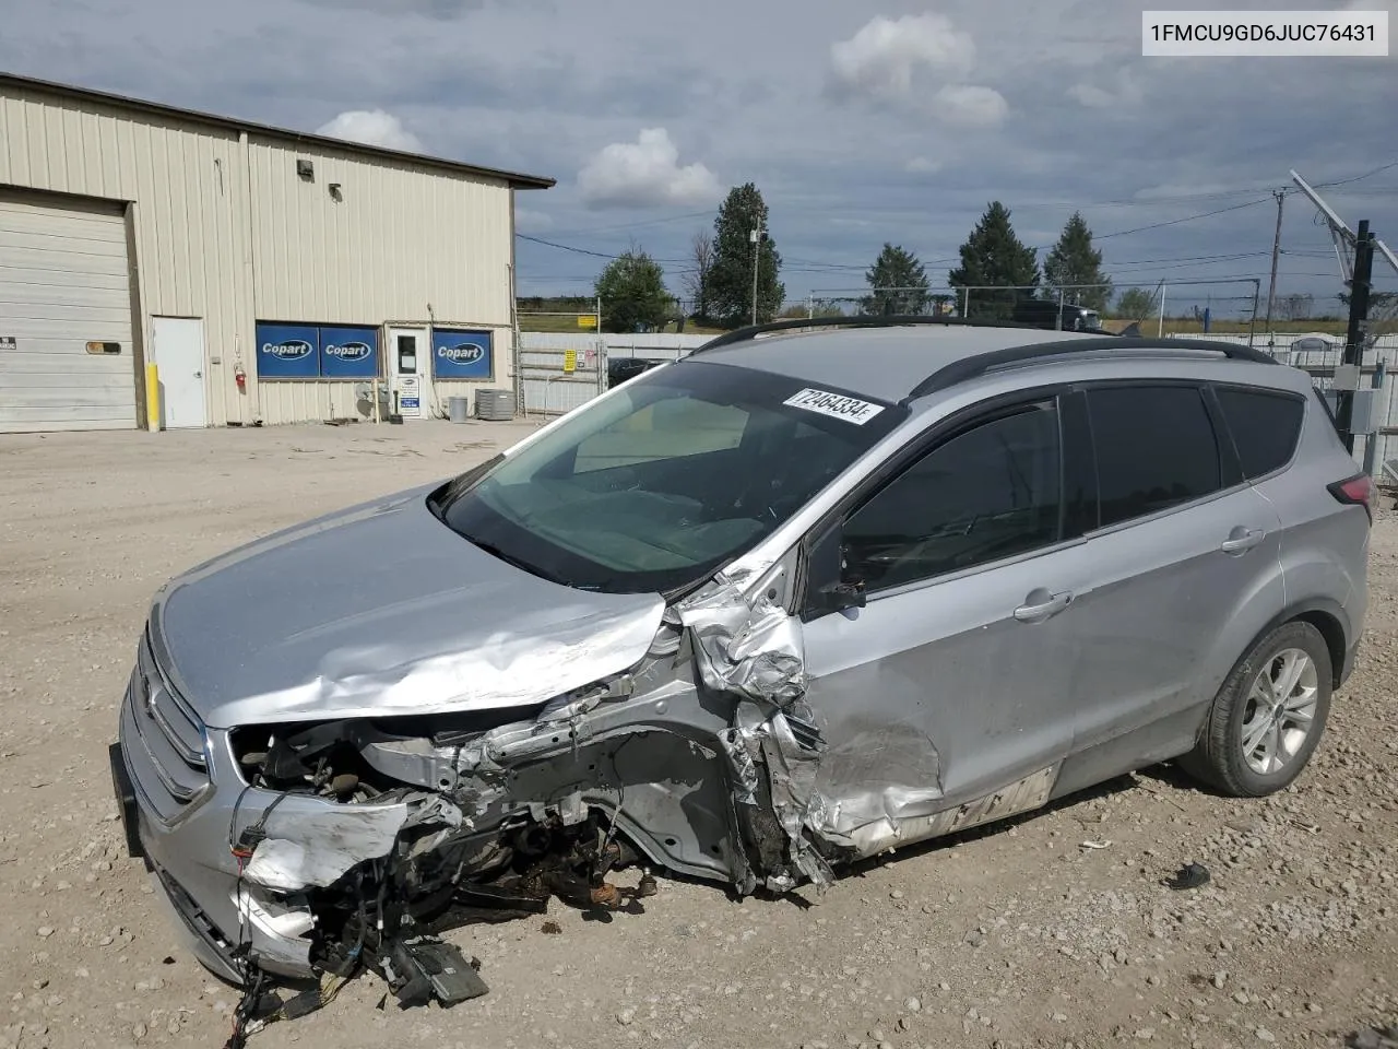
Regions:
M 141 343 L 204 319 L 210 425 L 358 414 L 354 382 L 259 385 L 256 320 L 495 327 L 491 382 L 450 392 L 512 382 L 503 182 L 6 88 L 0 183 L 134 201 Z

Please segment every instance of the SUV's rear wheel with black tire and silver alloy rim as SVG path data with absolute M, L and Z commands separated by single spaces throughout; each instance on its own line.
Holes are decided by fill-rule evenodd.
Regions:
M 1285 789 L 1320 743 L 1334 680 L 1318 629 L 1300 620 L 1278 627 L 1233 667 L 1180 766 L 1233 797 Z

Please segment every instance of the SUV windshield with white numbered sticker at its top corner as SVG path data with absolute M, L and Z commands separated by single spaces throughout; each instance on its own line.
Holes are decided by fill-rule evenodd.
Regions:
M 535 575 L 664 593 L 770 534 L 903 418 L 844 390 L 682 361 L 579 408 L 432 505 Z

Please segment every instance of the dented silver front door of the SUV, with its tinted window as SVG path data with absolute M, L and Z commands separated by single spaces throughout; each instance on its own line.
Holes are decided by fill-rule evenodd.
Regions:
M 1085 571 L 1060 448 L 1053 399 L 1000 410 L 816 544 L 814 600 L 836 573 L 865 593 L 805 627 L 828 839 L 871 855 L 1047 797 L 1072 741 Z

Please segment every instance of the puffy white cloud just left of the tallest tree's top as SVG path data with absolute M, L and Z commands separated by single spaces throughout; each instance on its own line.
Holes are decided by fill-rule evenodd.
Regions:
M 589 207 L 710 204 L 723 192 L 703 164 L 679 166 L 679 150 L 664 127 L 649 127 L 633 143 L 603 147 L 577 172 Z

